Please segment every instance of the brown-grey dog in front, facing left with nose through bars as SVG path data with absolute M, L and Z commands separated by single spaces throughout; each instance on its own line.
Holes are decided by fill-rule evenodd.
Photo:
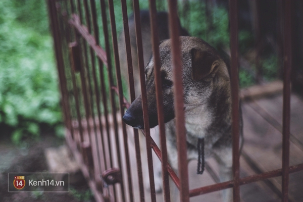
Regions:
M 204 139 L 205 158 L 214 157 L 219 164 L 220 181 L 232 180 L 232 120 L 229 64 L 216 49 L 202 39 L 180 36 L 182 59 L 183 97 L 187 143 L 187 159 L 198 159 L 197 142 Z M 173 73 L 171 63 L 171 40 L 159 45 L 161 78 L 164 100 L 164 120 L 168 160 L 174 171 L 178 171 L 178 155 L 175 134 L 175 112 Z M 158 125 L 154 58 L 145 67 L 146 93 L 149 126 Z M 143 129 L 141 95 L 131 104 L 123 121 Z M 240 142 L 242 145 L 242 118 L 240 115 Z M 232 190 L 223 190 L 223 201 L 232 201 Z

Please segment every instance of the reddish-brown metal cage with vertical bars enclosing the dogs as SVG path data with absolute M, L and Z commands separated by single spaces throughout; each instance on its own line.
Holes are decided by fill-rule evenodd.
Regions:
M 151 201 L 156 201 L 152 152 L 162 162 L 163 192 L 170 200 L 169 177 L 180 191 L 181 201 L 192 196 L 226 188 L 233 188 L 234 201 L 240 201 L 239 187 L 244 184 L 282 176 L 282 201 L 288 201 L 289 174 L 303 170 L 303 164 L 289 166 L 290 134 L 290 70 L 291 70 L 291 3 L 284 1 L 284 88 L 283 88 L 283 155 L 282 168 L 240 178 L 239 176 L 239 87 L 238 87 L 238 1 L 229 1 L 231 47 L 231 94 L 233 131 L 233 180 L 210 186 L 189 189 L 186 157 L 186 137 L 183 112 L 183 87 L 174 82 L 176 133 L 179 173 L 174 173 L 167 161 L 163 118 L 163 97 L 160 80 L 159 39 L 157 32 L 156 1 L 149 1 L 150 25 L 157 88 L 158 120 L 161 149 L 150 137 L 145 76 L 142 57 L 142 38 L 138 0 L 133 0 L 136 42 L 140 68 L 141 93 L 150 178 Z M 129 103 L 123 96 L 119 65 L 118 40 L 112 0 L 47 0 L 49 18 L 55 44 L 59 72 L 62 110 L 66 127 L 66 141 L 94 193 L 96 201 L 136 201 L 134 183 L 139 187 L 139 200 L 145 201 L 138 130 L 134 129 L 136 167 L 130 165 L 129 145 L 125 123 L 121 122 Z M 135 99 L 128 28 L 127 3 L 121 0 L 131 102 Z M 174 81 L 181 80 L 181 59 L 177 23 L 177 2 L 168 1 L 169 29 L 172 43 Z M 108 16 L 109 14 L 109 16 Z M 110 23 L 108 23 L 110 20 Z M 108 26 L 110 24 L 110 26 Z M 103 32 L 100 32 L 103 31 Z M 99 33 L 100 32 L 100 33 Z M 100 40 L 103 38 L 103 40 Z M 112 51 L 114 63 L 112 62 Z M 109 96 L 108 96 L 109 95 Z M 120 126 L 120 127 L 119 127 Z M 119 129 L 120 128 L 120 129 Z M 119 135 L 119 134 L 122 134 Z M 120 138 L 123 137 L 123 138 Z M 116 145 L 113 147 L 113 145 Z M 146 165 L 143 165 L 146 166 Z M 122 172 L 122 167 L 125 171 Z M 137 181 L 132 178 L 136 170 Z M 179 177 L 178 177 L 179 176 Z

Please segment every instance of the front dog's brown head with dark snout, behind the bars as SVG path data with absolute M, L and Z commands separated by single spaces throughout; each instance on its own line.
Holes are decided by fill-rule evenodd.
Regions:
M 204 40 L 182 36 L 180 37 L 180 44 L 183 81 L 178 82 L 183 82 L 184 110 L 190 110 L 206 104 L 215 85 L 218 82 L 222 83 L 222 81 L 229 82 L 229 75 L 225 63 L 216 50 Z M 175 117 L 171 40 L 162 41 L 159 50 L 164 121 L 166 123 Z M 151 57 L 146 65 L 145 76 L 149 127 L 153 128 L 158 125 L 154 57 Z M 126 111 L 123 121 L 134 128 L 144 128 L 141 95 L 134 100 Z

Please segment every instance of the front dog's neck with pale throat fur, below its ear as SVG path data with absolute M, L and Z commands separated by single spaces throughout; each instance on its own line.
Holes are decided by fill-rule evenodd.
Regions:
M 223 75 L 227 73 L 227 76 L 214 78 L 214 86 L 208 102 L 186 108 L 185 127 L 187 133 L 196 138 L 222 133 L 221 130 L 228 132 L 231 125 L 229 76 L 226 66 L 218 71 L 223 71 Z M 222 76 L 222 73 L 220 75 Z

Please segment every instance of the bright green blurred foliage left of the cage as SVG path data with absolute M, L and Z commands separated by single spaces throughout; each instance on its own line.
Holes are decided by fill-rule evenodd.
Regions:
M 0 1 L 0 123 L 12 141 L 62 122 L 45 1 Z

